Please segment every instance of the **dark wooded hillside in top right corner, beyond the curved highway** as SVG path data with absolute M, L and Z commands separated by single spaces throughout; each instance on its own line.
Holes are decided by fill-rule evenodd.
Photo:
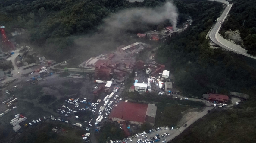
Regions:
M 249 54 L 256 55 L 256 1 L 233 0 L 233 6 L 227 20 L 222 24 L 220 33 L 228 30 L 239 30 L 242 45 Z M 232 3 L 230 2 L 230 3 Z

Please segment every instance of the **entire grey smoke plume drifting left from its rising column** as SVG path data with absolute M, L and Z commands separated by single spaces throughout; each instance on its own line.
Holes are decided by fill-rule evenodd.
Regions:
M 125 39 L 121 37 L 127 31 L 139 31 L 142 27 L 146 29 L 147 25 L 158 25 L 166 20 L 169 20 L 173 28 L 176 29 L 177 19 L 177 8 L 171 2 L 154 8 L 129 8 L 111 14 L 103 20 L 97 33 L 81 37 L 75 43 L 90 50 L 109 49 L 126 44 L 124 43 Z

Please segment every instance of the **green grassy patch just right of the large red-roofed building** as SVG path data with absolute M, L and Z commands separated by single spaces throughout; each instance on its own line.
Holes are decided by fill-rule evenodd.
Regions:
M 155 104 L 157 106 L 155 127 L 175 126 L 182 118 L 181 112 L 192 108 L 177 104 Z

